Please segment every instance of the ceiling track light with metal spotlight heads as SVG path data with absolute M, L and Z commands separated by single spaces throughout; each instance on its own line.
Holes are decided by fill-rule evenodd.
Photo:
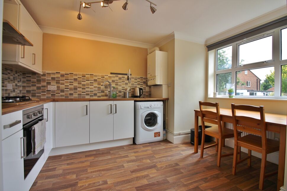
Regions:
M 91 8 L 91 4 L 100 3 L 101 7 L 109 7 L 109 4 L 112 4 L 113 1 L 120 1 L 120 0 L 102 0 L 102 1 L 94 1 L 94 2 L 88 2 L 88 3 L 86 3 L 86 2 L 82 3 L 82 1 L 80 1 L 80 10 L 79 10 L 79 14 L 77 16 L 77 19 L 82 20 L 81 6 L 83 6 L 84 8 Z M 150 3 L 151 13 L 154 14 L 157 11 L 157 9 L 154 8 L 153 6 L 151 6 L 151 4 L 153 4 L 154 6 L 157 6 L 157 5 L 154 4 L 153 2 L 149 1 L 149 0 L 145 0 L 145 1 L 148 1 Z M 122 9 L 128 10 L 128 0 L 126 0 L 126 2 L 123 4 Z

